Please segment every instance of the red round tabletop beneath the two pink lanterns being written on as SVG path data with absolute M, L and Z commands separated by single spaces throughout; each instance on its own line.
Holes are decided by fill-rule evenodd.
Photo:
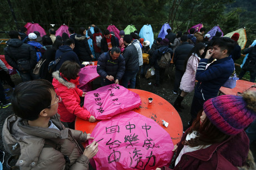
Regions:
M 162 97 L 153 94 L 152 92 L 138 89 L 129 90 L 135 92 L 136 94 L 139 94 L 141 99 L 141 106 L 138 109 L 134 109 L 133 111 L 156 121 L 159 126 L 163 127 L 164 130 L 169 133 L 174 145 L 176 145 L 176 143 L 181 140 L 181 137 L 183 135 L 183 124 L 181 122 L 180 115 L 175 110 L 173 105 L 171 105 Z M 153 98 L 151 105 L 148 102 L 149 97 Z M 168 122 L 169 126 L 163 126 L 162 120 Z M 91 133 L 98 122 L 99 121 L 91 123 L 89 121 L 76 117 L 75 129 L 85 131 L 86 133 Z

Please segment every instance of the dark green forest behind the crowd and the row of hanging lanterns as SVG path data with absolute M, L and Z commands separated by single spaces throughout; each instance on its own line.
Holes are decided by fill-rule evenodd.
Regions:
M 166 22 L 174 33 L 186 32 L 191 26 L 203 23 L 206 32 L 219 25 L 224 35 L 245 27 L 247 48 L 256 39 L 255 4 L 256 0 L 5 0 L 0 2 L 0 38 L 9 38 L 7 31 L 17 30 L 27 22 L 40 24 L 46 33 L 50 28 L 57 30 L 63 23 L 76 32 L 91 24 L 101 30 L 110 24 L 119 30 L 129 24 L 137 30 L 151 24 L 155 38 Z M 0 54 L 2 49 L 0 47 Z

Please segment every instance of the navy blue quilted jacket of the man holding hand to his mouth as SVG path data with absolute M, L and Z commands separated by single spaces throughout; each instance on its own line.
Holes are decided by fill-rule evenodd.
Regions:
M 195 75 L 195 79 L 198 80 L 195 87 L 195 96 L 205 101 L 218 95 L 220 87 L 234 71 L 234 61 L 231 55 L 214 61 L 205 70 L 208 61 L 209 59 L 199 61 Z

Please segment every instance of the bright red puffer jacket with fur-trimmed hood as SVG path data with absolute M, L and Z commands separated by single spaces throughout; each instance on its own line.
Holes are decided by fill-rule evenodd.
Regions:
M 52 76 L 55 92 L 62 99 L 62 102 L 58 104 L 58 114 L 61 115 L 61 121 L 73 122 L 76 116 L 88 120 L 91 116 L 90 112 L 80 106 L 80 96 L 82 96 L 83 91 L 78 89 L 75 84 L 63 79 L 59 71 L 53 72 Z

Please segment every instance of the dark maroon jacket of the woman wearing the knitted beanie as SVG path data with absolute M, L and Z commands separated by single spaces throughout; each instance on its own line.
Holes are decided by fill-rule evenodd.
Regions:
M 185 140 L 185 132 L 181 141 Z M 176 158 L 179 156 L 183 145 L 178 143 Z M 238 169 L 245 165 L 249 152 L 249 139 L 244 131 L 229 137 L 226 141 L 215 143 L 207 148 L 187 152 L 181 156 L 176 169 Z M 175 159 L 176 159 L 175 158 Z M 164 167 L 162 169 L 170 169 Z

